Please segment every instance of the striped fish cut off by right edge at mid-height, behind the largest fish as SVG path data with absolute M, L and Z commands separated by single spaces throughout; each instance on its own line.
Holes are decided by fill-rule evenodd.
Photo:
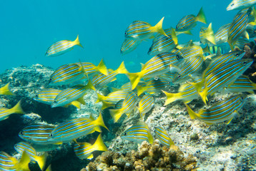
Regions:
M 232 93 L 239 93 L 239 92 L 249 92 L 254 93 L 253 90 L 256 90 L 256 84 L 252 83 L 247 76 L 240 76 L 238 77 L 234 83 L 226 88 L 227 91 Z

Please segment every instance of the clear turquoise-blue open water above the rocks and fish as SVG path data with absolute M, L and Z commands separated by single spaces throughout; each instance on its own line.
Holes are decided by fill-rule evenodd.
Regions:
M 151 41 L 144 41 L 132 53 L 120 55 L 124 31 L 132 21 L 157 22 L 165 16 L 163 28 L 175 27 L 182 16 L 197 15 L 203 6 L 207 22 L 214 31 L 232 21 L 237 11 L 226 11 L 230 1 L 1 1 L 0 73 L 7 68 L 40 63 L 57 68 L 66 63 L 81 61 L 98 64 L 104 58 L 108 68 L 117 68 L 124 61 L 131 72 L 139 63 L 149 60 L 147 51 Z M 194 36 L 180 36 L 179 43 L 199 40 L 201 26 L 192 30 Z M 61 56 L 46 57 L 52 43 L 72 40 L 79 34 L 84 46 L 74 47 Z

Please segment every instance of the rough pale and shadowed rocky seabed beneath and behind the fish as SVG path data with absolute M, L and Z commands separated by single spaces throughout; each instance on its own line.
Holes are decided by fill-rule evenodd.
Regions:
M 15 96 L 1 95 L 1 106 L 10 108 L 14 106 L 19 100 L 21 100 L 22 108 L 26 115 L 11 115 L 8 119 L 1 121 L 1 150 L 15 155 L 14 145 L 21 141 L 19 138 L 19 131 L 27 125 L 33 125 L 35 123 L 49 123 L 56 125 L 64 120 L 81 118 L 84 116 L 93 115 L 96 117 L 96 113 L 101 111 L 101 104 L 95 103 L 97 100 L 97 94 L 89 90 L 87 95 L 84 96 L 86 105 L 82 105 L 81 109 L 69 106 L 69 108 L 51 108 L 50 105 L 38 103 L 33 100 L 36 92 L 41 88 L 48 88 L 49 76 L 53 70 L 51 68 L 41 66 L 39 64 L 26 67 L 21 66 L 18 68 L 12 68 L 0 75 L 1 87 L 6 83 L 10 83 L 11 90 L 16 94 Z M 118 85 L 118 82 L 113 83 Z M 60 89 L 65 86 L 59 86 Z M 169 87 L 169 92 L 172 92 L 177 87 Z M 101 90 L 107 93 L 108 90 Z M 215 93 L 210 98 L 210 103 L 215 103 L 229 97 L 232 93 L 222 95 L 221 93 Z M 108 152 L 100 152 L 95 154 L 99 155 L 94 161 L 89 164 L 89 160 L 79 160 L 74 155 L 73 145 L 74 142 L 64 143 L 52 150 L 49 153 L 47 163 L 51 163 L 52 170 L 95 170 L 95 165 L 99 164 L 102 158 L 108 160 L 116 160 L 118 157 L 120 160 L 127 159 L 129 157 L 129 166 L 126 166 L 122 162 L 122 167 L 134 167 L 134 170 L 144 170 L 144 160 L 151 160 L 154 163 L 155 170 L 160 163 L 152 155 L 149 157 L 142 157 L 139 152 L 145 147 L 150 151 L 156 145 L 158 150 L 165 150 L 165 152 L 176 151 L 182 157 L 182 160 L 187 162 L 174 162 L 172 168 L 174 170 L 256 170 L 256 95 L 248 95 L 247 103 L 240 110 L 240 115 L 232 120 L 227 125 L 225 123 L 217 123 L 214 125 L 205 125 L 200 120 L 191 120 L 184 103 L 177 100 L 167 106 L 164 106 L 164 94 L 154 94 L 155 105 L 154 108 L 146 113 L 144 116 L 144 122 L 149 125 L 153 138 L 154 129 L 157 126 L 162 126 L 167 130 L 170 137 L 174 141 L 175 146 L 172 146 L 170 150 L 167 147 L 162 147 L 158 142 L 154 142 L 151 146 L 144 142 L 137 151 L 137 144 L 135 142 L 129 142 L 120 138 L 120 135 L 124 133 L 124 130 L 139 120 L 139 112 L 132 113 L 129 118 L 121 118 L 121 121 L 114 123 L 109 110 L 103 110 L 102 115 L 104 121 L 110 131 L 103 130 L 102 137 L 104 142 L 109 147 Z M 189 103 L 195 112 L 200 108 L 204 108 L 205 105 L 200 99 L 195 99 Z M 12 126 L 10 126 L 12 125 Z M 96 139 L 97 135 L 87 135 L 79 138 L 77 141 L 90 142 L 92 139 Z M 159 147 L 161 146 L 161 148 Z M 95 155 L 94 156 L 97 156 Z M 132 158 L 132 154 L 138 156 Z M 149 153 L 148 153 L 149 154 Z M 140 157 L 139 157 L 140 156 Z M 171 157 L 171 156 L 168 156 Z M 144 160 L 142 160 L 144 158 Z M 154 158 L 154 160 L 152 160 Z M 161 159 L 158 156 L 157 159 Z M 127 159 L 128 160 L 128 159 Z M 138 161 L 142 162 L 139 163 Z M 132 161 L 134 162 L 132 164 Z M 135 162 L 137 161 L 137 162 Z M 61 163 L 61 165 L 60 165 Z M 114 164 L 107 166 L 99 164 L 99 167 L 107 167 L 109 170 L 114 170 Z M 158 164 L 157 164 L 158 163 Z M 186 164 L 187 163 L 187 164 Z M 89 164 L 89 165 L 88 165 Z M 130 164 L 132 166 L 130 166 Z M 124 166 L 125 165 L 125 166 Z M 128 165 L 128 164 L 127 164 Z M 160 165 L 160 164 L 159 164 Z M 98 167 L 98 166 L 97 166 Z M 147 166 L 148 168 L 149 166 Z M 84 168 L 84 169 L 82 169 Z M 112 169 L 111 169 L 112 168 Z M 137 168 L 137 169 L 136 169 Z M 115 168 L 116 170 L 119 167 Z M 99 169 L 100 170 L 100 169 Z M 164 170 L 164 169 L 163 169 Z

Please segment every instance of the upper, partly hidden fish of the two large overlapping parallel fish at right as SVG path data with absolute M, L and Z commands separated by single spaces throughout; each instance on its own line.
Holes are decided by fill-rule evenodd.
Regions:
M 211 73 L 217 71 L 218 68 L 224 63 L 228 63 L 229 61 L 240 60 L 242 56 L 245 55 L 245 51 L 231 51 L 230 53 L 225 53 L 222 56 L 219 56 L 211 61 L 211 63 L 207 66 L 205 71 L 202 73 L 201 81 L 197 83 L 191 83 L 196 89 L 197 92 L 202 91 L 202 87 L 204 86 L 205 79 L 210 76 Z

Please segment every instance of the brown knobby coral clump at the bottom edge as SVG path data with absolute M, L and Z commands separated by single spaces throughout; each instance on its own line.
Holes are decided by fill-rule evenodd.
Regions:
M 195 170 L 196 165 L 197 157 L 185 156 L 175 145 L 162 147 L 155 140 L 152 145 L 144 141 L 137 151 L 132 150 L 124 155 L 120 152 L 103 152 L 83 170 Z

